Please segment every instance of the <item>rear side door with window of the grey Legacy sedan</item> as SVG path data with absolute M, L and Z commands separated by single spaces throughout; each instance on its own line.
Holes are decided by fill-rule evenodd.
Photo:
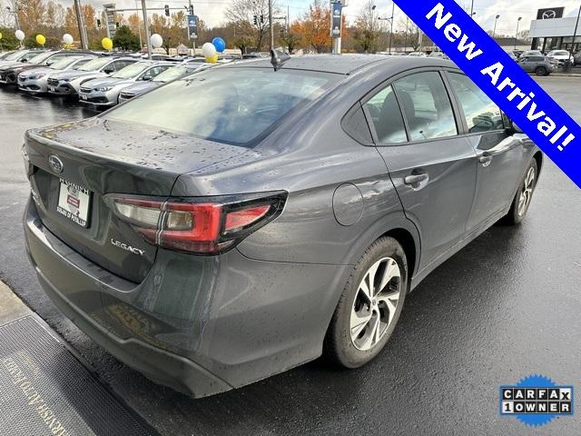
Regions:
M 466 232 L 476 188 L 474 148 L 458 135 L 438 71 L 395 77 L 362 104 L 405 213 L 419 229 L 421 269 Z

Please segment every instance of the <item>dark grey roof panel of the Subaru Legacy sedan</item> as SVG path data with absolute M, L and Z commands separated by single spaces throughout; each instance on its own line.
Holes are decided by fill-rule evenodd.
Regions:
M 399 66 L 401 69 L 406 67 L 417 67 L 421 64 L 442 66 L 455 66 L 450 61 L 440 58 L 415 57 L 413 59 L 407 56 L 386 56 L 384 54 L 305 54 L 300 56 L 291 56 L 286 61 L 282 69 L 309 70 L 321 73 L 331 74 L 353 74 L 356 71 L 374 64 L 390 64 L 394 67 Z M 235 67 L 271 67 L 269 58 L 245 60 L 243 63 L 222 64 L 222 68 Z

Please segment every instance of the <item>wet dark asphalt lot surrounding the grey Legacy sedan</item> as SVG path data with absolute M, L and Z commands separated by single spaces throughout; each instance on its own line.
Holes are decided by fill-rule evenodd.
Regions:
M 580 78 L 537 80 L 581 122 Z M 368 366 L 311 362 L 197 401 L 147 381 L 54 308 L 25 256 L 25 129 L 91 115 L 0 90 L 0 279 L 161 434 L 530 434 L 498 415 L 499 385 L 542 373 L 581 391 L 581 192 L 548 161 L 525 223 L 491 228 L 428 276 Z M 581 414 L 534 432 L 581 434 Z

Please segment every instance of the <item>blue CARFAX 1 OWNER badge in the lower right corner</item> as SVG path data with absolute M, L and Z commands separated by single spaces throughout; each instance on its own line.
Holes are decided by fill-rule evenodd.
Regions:
M 527 425 L 545 425 L 558 416 L 573 415 L 573 386 L 559 386 L 543 375 L 529 375 L 514 386 L 500 386 L 500 415 Z

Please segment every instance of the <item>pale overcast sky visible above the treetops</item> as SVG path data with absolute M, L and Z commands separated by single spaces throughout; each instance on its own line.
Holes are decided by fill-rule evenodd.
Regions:
M 141 0 L 138 0 L 138 5 L 141 6 Z M 349 21 L 353 21 L 357 16 L 361 5 L 365 4 L 367 0 L 349 0 L 349 7 L 344 10 L 345 15 Z M 415 0 L 422 1 L 422 0 Z M 469 10 L 471 0 L 456 0 L 459 5 L 464 6 Z M 82 0 L 83 3 L 91 3 L 98 10 L 103 9 L 103 3 L 116 3 L 118 8 L 135 7 L 135 0 Z M 146 0 L 148 7 L 163 7 L 163 5 L 171 5 L 171 7 L 182 7 L 187 4 L 187 0 Z M 275 0 L 277 5 L 281 8 L 284 15 L 286 15 L 287 6 L 291 15 L 291 20 L 294 20 L 300 15 L 304 15 L 309 10 L 309 5 L 312 0 Z M 64 4 L 71 4 L 72 0 L 65 0 Z M 219 25 L 224 21 L 223 11 L 230 5 L 230 0 L 193 0 L 194 11 L 200 15 L 202 20 L 210 26 Z M 376 0 L 377 11 L 379 15 L 390 16 L 391 5 L 390 0 Z M 476 20 L 479 25 L 482 25 L 486 30 L 492 29 L 494 25 L 494 17 L 498 14 L 500 18 L 497 24 L 497 33 L 514 35 L 517 27 L 517 19 L 519 16 L 523 17 L 519 29 L 528 29 L 530 21 L 537 17 L 537 9 L 545 7 L 565 6 L 565 15 L 576 15 L 579 7 L 579 0 L 474 0 L 474 10 L 476 11 Z M 396 23 L 399 21 L 399 16 L 404 16 L 396 7 Z

